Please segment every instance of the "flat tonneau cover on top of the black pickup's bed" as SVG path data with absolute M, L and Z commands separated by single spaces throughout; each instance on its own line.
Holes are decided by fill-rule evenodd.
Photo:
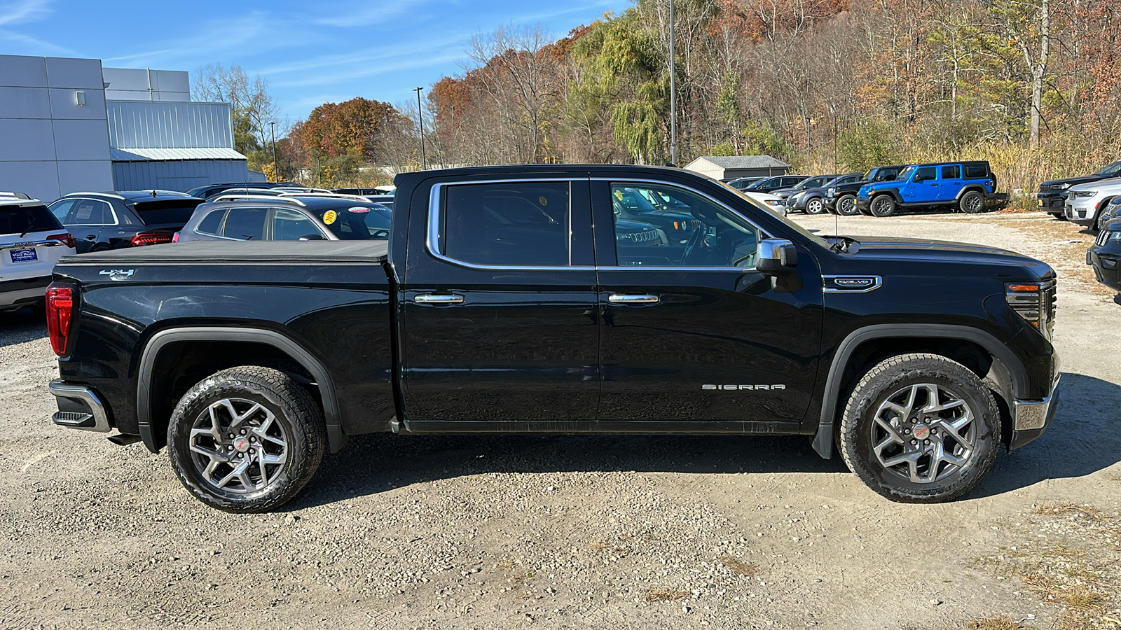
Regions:
M 382 263 L 389 241 L 189 241 L 66 256 L 62 265 Z

